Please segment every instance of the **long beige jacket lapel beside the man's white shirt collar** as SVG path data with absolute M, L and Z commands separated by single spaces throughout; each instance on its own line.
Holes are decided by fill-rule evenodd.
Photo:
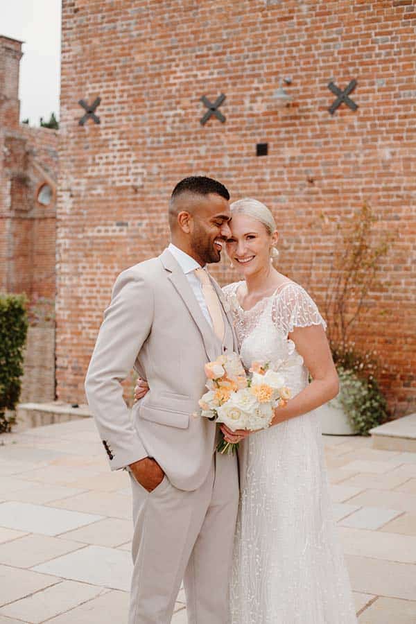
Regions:
M 205 320 L 205 316 L 200 309 L 200 305 L 193 294 L 191 286 L 189 286 L 186 275 L 184 275 L 179 264 L 168 250 L 164 250 L 159 258 L 164 268 L 168 271 L 168 279 L 172 282 L 178 295 L 180 295 L 184 304 L 187 306 L 193 321 L 200 331 L 209 361 L 214 361 L 218 351 L 216 347 L 216 336 L 211 327 L 209 327 L 207 320 Z

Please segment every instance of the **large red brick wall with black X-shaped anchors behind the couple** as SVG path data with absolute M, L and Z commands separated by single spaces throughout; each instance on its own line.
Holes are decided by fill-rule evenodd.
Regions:
M 358 345 L 376 349 L 397 414 L 415 404 L 416 6 L 413 0 L 64 0 L 58 192 L 58 395 L 83 379 L 114 278 L 159 253 L 166 204 L 185 175 L 254 196 L 280 232 L 279 268 L 324 296 L 335 239 L 316 225 L 364 201 L 395 232 L 383 294 Z M 279 76 L 293 105 L 273 97 Z M 333 80 L 358 81 L 331 116 Z M 204 127 L 200 97 L 227 121 Z M 101 97 L 101 124 L 78 125 Z M 256 157 L 267 142 L 269 155 Z M 311 263 L 313 271 L 311 272 Z M 235 279 L 224 262 L 214 272 Z

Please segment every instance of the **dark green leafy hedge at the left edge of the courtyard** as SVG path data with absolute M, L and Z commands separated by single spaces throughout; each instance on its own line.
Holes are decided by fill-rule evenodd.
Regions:
M 0 294 L 0 433 L 10 431 L 14 417 L 6 410 L 15 410 L 21 390 L 24 345 L 28 331 L 24 295 Z

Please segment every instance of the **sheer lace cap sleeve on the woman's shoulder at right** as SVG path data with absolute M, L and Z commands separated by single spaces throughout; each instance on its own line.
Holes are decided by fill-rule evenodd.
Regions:
M 275 296 L 272 319 L 279 328 L 283 329 L 286 336 L 295 327 L 322 325 L 324 329 L 327 329 L 327 323 L 320 315 L 318 306 L 304 288 L 295 283 L 284 286 Z

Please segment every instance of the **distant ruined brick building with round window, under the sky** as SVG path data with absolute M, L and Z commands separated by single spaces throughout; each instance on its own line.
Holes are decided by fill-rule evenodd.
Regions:
M 43 182 L 55 188 L 58 133 L 19 125 L 21 43 L 0 36 L 0 290 L 55 297 L 55 199 L 40 205 Z

